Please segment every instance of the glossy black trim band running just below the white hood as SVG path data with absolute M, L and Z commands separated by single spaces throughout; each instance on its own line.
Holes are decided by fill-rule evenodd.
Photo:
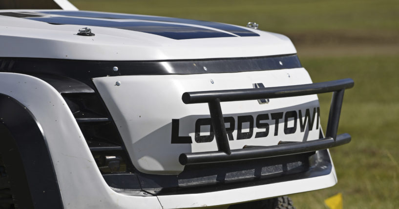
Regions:
M 119 68 L 117 72 L 113 71 L 114 66 Z M 236 73 L 300 67 L 302 66 L 296 55 L 159 61 L 92 61 L 0 57 L 0 72 L 21 73 L 38 77 L 43 74 L 69 77 L 84 82 L 92 89 L 95 89 L 91 81 L 91 78 L 94 77 Z M 63 81 L 66 82 L 66 80 Z M 72 81 L 69 79 L 68 83 L 72 83 Z M 91 92 L 90 89 L 74 82 L 75 84 L 77 87 L 79 86 L 79 89 Z M 62 91 L 66 91 L 65 88 Z

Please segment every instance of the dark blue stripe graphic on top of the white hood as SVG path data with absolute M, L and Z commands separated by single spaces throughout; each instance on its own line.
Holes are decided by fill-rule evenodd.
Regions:
M 50 24 L 71 24 L 71 25 L 119 28 L 119 29 L 159 35 L 178 40 L 192 39 L 192 38 L 234 37 L 234 35 L 240 37 L 259 36 L 258 34 L 252 31 L 234 25 L 229 25 L 219 22 L 193 20 L 193 19 L 179 19 L 179 18 L 167 18 L 167 17 L 156 17 L 156 16 L 113 14 L 113 13 L 99 13 L 99 12 L 85 12 L 85 11 L 41 11 L 41 12 L 29 12 L 29 13 L 3 12 L 0 13 L 0 15 L 16 17 L 16 18 L 26 18 L 31 20 L 47 22 Z M 57 15 L 57 16 L 52 17 L 49 15 Z M 90 18 L 97 18 L 97 19 L 90 19 Z M 119 22 L 119 21 L 114 21 L 115 19 L 132 19 L 132 20 L 146 20 L 146 21 Z M 158 22 L 147 22 L 147 21 L 158 21 Z M 173 24 L 173 23 L 201 25 L 210 28 L 215 28 L 218 30 L 223 30 L 225 32 L 201 28 L 201 27 L 195 27 L 195 26 Z

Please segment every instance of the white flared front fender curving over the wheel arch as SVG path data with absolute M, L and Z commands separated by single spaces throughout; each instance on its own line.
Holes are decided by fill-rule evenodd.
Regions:
M 4 99 L 10 97 L 12 98 L 10 101 L 20 104 L 19 108 L 25 110 L 26 114 L 30 112 L 32 121 L 35 121 L 34 118 L 36 118 L 37 127 L 42 131 L 40 144 L 42 144 L 43 151 L 38 152 L 34 147 L 28 145 L 26 145 L 26 149 L 30 148 L 31 152 L 40 154 L 44 152 L 45 148 L 48 149 L 48 158 L 51 160 L 47 160 L 46 165 L 53 164 L 56 180 L 52 180 L 52 182 L 53 184 L 58 183 L 62 197 L 58 197 L 58 199 L 60 201 L 62 199 L 63 208 L 161 208 L 155 196 L 126 196 L 109 188 L 98 170 L 84 136 L 65 100 L 51 85 L 33 76 L 0 73 L 0 94 L 5 96 Z M 8 108 L 1 105 L 0 103 L 2 112 L 7 112 Z M 13 105 L 7 107 L 10 106 Z M 20 112 L 17 111 L 15 114 L 20 114 Z M 12 118 L 12 116 L 10 117 Z M 10 117 L 7 116 L 7 118 Z M 4 121 L 4 123 L 9 122 Z M 23 127 L 25 124 L 20 120 L 15 120 L 15 123 L 19 127 Z M 32 140 L 27 132 L 22 131 L 22 128 L 15 130 L 20 132 L 25 141 Z M 25 144 L 23 145 L 25 146 Z M 41 175 L 43 172 L 35 166 L 31 169 L 37 175 Z M 29 184 L 30 181 L 33 181 L 34 184 L 42 183 L 39 180 L 35 182 L 35 180 L 28 179 L 28 181 Z M 43 191 L 46 193 L 46 190 L 41 192 L 43 193 Z M 49 198 L 46 198 L 44 203 L 48 201 Z M 45 205 L 40 208 L 60 207 Z

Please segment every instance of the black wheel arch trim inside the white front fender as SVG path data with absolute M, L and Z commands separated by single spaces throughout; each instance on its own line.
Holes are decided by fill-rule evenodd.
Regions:
M 46 139 L 34 115 L 0 94 L 0 152 L 21 208 L 63 209 Z

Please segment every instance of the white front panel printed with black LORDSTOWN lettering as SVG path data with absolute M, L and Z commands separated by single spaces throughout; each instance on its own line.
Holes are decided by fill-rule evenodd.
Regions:
M 184 104 L 181 99 L 183 93 L 246 89 L 252 88 L 253 83 L 263 83 L 265 87 L 312 83 L 304 68 L 200 75 L 112 76 L 94 78 L 93 81 L 121 133 L 134 166 L 139 171 L 153 174 L 177 174 L 183 171 L 184 166 L 178 162 L 181 153 L 217 150 L 216 140 L 208 143 L 194 141 L 196 120 L 210 117 L 208 104 Z M 115 85 L 116 81 L 120 81 L 121 85 Z M 235 139 L 237 115 L 252 115 L 256 118 L 261 113 L 293 110 L 305 113 L 305 109 L 313 113 L 313 108 L 318 106 L 317 95 L 276 98 L 262 105 L 256 100 L 221 103 L 223 115 L 233 116 L 236 121 L 232 134 Z M 171 144 L 172 119 L 180 120 L 179 135 L 191 136 L 192 144 Z M 256 132 L 264 130 L 254 127 L 251 139 L 230 141 L 230 147 L 241 149 L 244 145 L 277 145 L 280 140 L 318 139 L 316 120 L 309 132 L 301 132 L 298 121 L 295 133 L 284 134 L 284 118 L 280 119 L 278 135 L 274 136 L 274 121 L 269 120 L 267 137 L 255 138 Z M 243 124 L 243 133 L 249 132 L 248 124 Z M 289 121 L 288 127 L 293 126 L 294 121 Z M 201 135 L 209 135 L 209 128 L 201 132 Z

